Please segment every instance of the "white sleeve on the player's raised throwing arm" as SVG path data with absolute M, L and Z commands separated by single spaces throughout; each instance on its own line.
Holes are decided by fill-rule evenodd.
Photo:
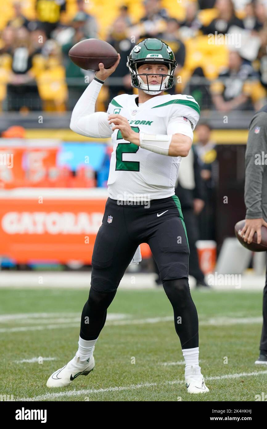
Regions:
M 87 137 L 106 138 L 113 133 L 106 112 L 95 112 L 96 99 L 102 83 L 95 79 L 87 86 L 77 101 L 70 120 L 70 129 Z

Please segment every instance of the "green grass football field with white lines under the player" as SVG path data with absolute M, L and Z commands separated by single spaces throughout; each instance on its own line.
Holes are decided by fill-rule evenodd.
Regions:
M 69 387 L 48 377 L 77 350 L 87 290 L 0 290 L 0 394 L 29 401 L 255 401 L 267 366 L 255 365 L 261 291 L 192 290 L 200 366 L 210 393 L 189 395 L 171 304 L 162 288 L 118 290 L 94 351 L 96 366 Z

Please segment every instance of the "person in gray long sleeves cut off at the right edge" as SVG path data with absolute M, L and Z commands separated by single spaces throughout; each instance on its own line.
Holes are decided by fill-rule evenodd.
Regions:
M 267 227 L 267 104 L 259 110 L 249 125 L 246 146 L 245 178 L 246 224 L 244 241 L 251 243 L 254 233 L 261 242 L 261 226 Z M 263 292 L 263 326 L 260 356 L 256 364 L 267 365 L 267 272 Z

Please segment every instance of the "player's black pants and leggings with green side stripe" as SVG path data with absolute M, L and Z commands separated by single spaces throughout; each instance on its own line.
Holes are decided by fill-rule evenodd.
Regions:
M 117 287 L 139 244 L 148 243 L 174 310 L 182 348 L 198 347 L 198 315 L 188 284 L 189 246 L 177 196 L 149 205 L 108 198 L 92 256 L 91 288 L 81 316 L 81 338 L 99 336 Z M 89 317 L 89 323 L 84 320 Z

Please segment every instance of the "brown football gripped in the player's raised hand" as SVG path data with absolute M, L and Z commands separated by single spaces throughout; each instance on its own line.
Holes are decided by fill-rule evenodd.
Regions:
M 69 57 L 81 69 L 97 71 L 99 63 L 103 63 L 105 69 L 113 66 L 118 59 L 118 53 L 103 40 L 86 39 L 72 46 Z

